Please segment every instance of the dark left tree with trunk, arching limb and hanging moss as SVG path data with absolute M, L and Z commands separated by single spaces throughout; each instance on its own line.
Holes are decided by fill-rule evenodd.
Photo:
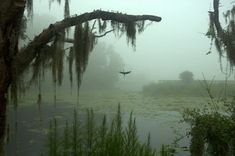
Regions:
M 49 0 L 61 3 L 61 0 Z M 72 43 L 68 49 L 69 71 L 75 64 L 78 86 L 82 73 L 86 69 L 89 52 L 93 49 L 96 39 L 106 34 L 110 23 L 116 34 L 125 33 L 127 41 L 135 46 L 136 32 L 144 30 L 144 21 L 159 22 L 158 16 L 128 15 L 122 13 L 95 10 L 81 15 L 69 15 L 69 0 L 64 0 L 64 19 L 39 33 L 25 47 L 19 49 L 19 38 L 27 38 L 24 34 L 27 18 L 33 16 L 33 0 L 0 0 L 0 146 L 3 147 L 4 129 L 6 121 L 6 99 L 9 88 L 11 96 L 17 98 L 17 91 L 21 88 L 22 74 L 33 69 L 33 79 L 36 80 L 41 72 L 50 68 L 56 84 L 62 83 L 63 58 L 65 56 L 64 42 Z M 93 24 L 90 23 L 93 22 Z M 96 21 L 96 22 L 95 22 Z M 95 26 L 97 25 L 97 26 Z M 75 26 L 74 38 L 67 39 L 69 27 Z M 94 33 L 98 28 L 100 35 Z M 102 34 L 104 33 L 104 34 Z M 0 155 L 4 155 L 0 148 Z

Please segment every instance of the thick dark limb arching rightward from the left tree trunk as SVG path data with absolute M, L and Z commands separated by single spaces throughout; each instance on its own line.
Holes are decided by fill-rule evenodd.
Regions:
M 161 21 L 161 17 L 153 15 L 128 15 L 101 10 L 84 13 L 79 16 L 68 17 L 62 21 L 56 22 L 55 24 L 51 24 L 48 28 L 44 29 L 43 32 L 36 36 L 26 48 L 22 49 L 21 52 L 17 54 L 14 59 L 14 64 L 17 67 L 21 67 L 21 70 L 18 70 L 18 73 L 21 73 L 25 67 L 30 64 L 39 52 L 38 50 L 51 41 L 52 37 L 54 37 L 58 32 L 61 32 L 65 28 L 94 19 L 102 19 L 104 21 L 111 20 L 118 23 L 130 23 L 144 20 L 154 22 Z

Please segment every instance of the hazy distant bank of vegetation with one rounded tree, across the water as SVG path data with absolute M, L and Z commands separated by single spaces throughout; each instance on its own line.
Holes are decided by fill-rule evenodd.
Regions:
M 150 83 L 145 85 L 142 91 L 145 95 L 151 96 L 208 96 L 209 89 L 211 94 L 217 97 L 235 95 L 234 82 L 213 81 L 210 86 L 205 86 L 207 80 L 193 80 L 193 73 L 190 71 L 180 73 L 179 78 L 180 80 Z

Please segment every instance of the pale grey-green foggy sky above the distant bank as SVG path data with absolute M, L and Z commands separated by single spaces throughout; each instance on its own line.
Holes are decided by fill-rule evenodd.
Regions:
M 95 9 L 114 10 L 127 14 L 153 14 L 162 17 L 142 34 L 137 35 L 136 51 L 126 44 L 126 38 L 109 34 L 102 42 L 112 44 L 125 61 L 125 67 L 144 75 L 146 79 L 178 79 L 180 72 L 190 70 L 195 79 L 215 76 L 224 79 L 216 50 L 206 55 L 210 40 L 203 35 L 208 28 L 208 11 L 212 0 L 70 0 L 72 14 L 81 14 Z M 222 1 L 221 1 L 222 2 Z M 229 4 L 230 0 L 224 1 Z M 222 2 L 223 3 L 223 2 Z M 35 1 L 35 14 L 50 14 L 57 20 L 63 17 L 61 7 L 48 2 Z M 227 9 L 222 5 L 222 10 Z M 225 61 L 224 61 L 225 62 Z M 128 69 L 127 69 L 128 70 Z M 231 77 L 232 79 L 234 76 Z

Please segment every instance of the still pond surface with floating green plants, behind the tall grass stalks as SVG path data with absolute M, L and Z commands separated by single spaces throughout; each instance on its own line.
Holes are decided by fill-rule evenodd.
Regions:
M 185 134 L 187 125 L 179 123 L 182 119 L 183 107 L 195 107 L 202 101 L 202 99 L 189 97 L 144 97 L 138 92 L 81 93 L 79 103 L 77 103 L 76 96 L 57 97 L 59 99 L 56 107 L 53 102 L 50 102 L 50 98 L 44 98 L 39 109 L 32 99 L 26 97 L 22 100 L 17 112 L 13 108 L 9 109 L 10 140 L 7 145 L 7 155 L 39 156 L 46 147 L 49 121 L 57 118 L 59 128 L 62 129 L 66 120 L 73 119 L 75 107 L 79 110 L 81 118 L 85 116 L 84 110 L 92 108 L 97 115 L 96 119 L 99 119 L 103 114 L 112 117 L 117 110 L 118 103 L 121 104 L 124 123 L 127 122 L 129 113 L 134 111 L 140 139 L 146 141 L 146 136 L 150 132 L 152 146 L 159 149 L 162 144 L 170 144 L 174 141 L 177 137 L 174 131 Z M 194 101 L 193 104 L 190 103 L 192 101 Z M 187 146 L 188 142 L 185 138 L 180 145 Z M 187 155 L 187 153 L 179 155 Z

